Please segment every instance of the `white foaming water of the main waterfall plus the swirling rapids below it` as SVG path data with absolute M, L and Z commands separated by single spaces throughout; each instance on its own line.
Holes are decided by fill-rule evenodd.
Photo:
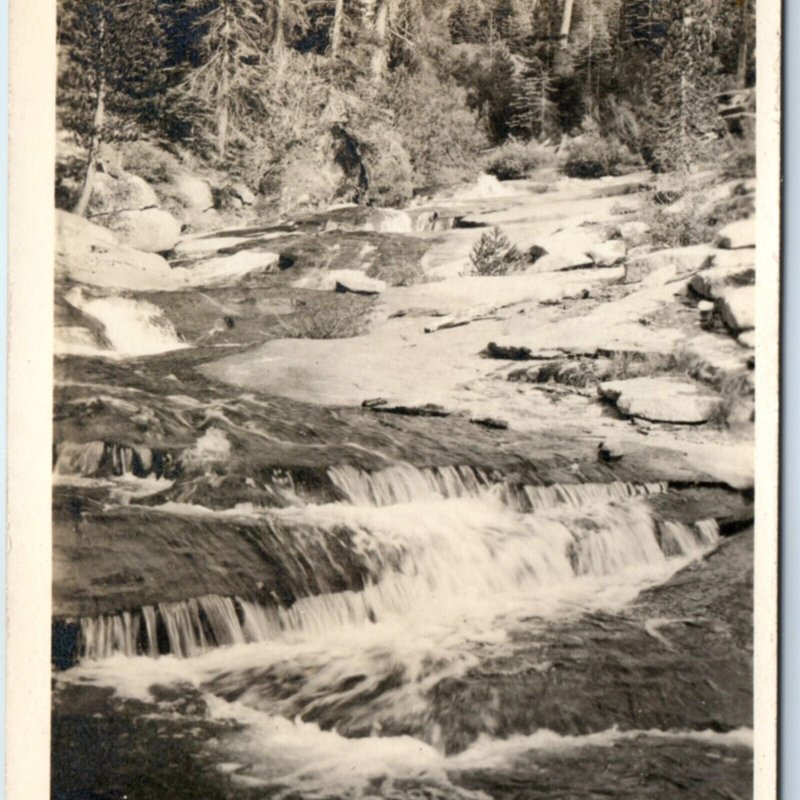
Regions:
M 289 606 L 206 595 L 86 617 L 81 662 L 61 680 L 150 701 L 153 685 L 196 687 L 212 718 L 242 726 L 215 748 L 219 763 L 247 765 L 239 778 L 248 786 L 288 785 L 304 796 L 358 794 L 384 773 L 441 782 L 459 765 L 635 736 L 611 724 L 583 738 L 484 736 L 448 754 L 430 697 L 487 653 L 506 651 L 525 620 L 546 626 L 623 608 L 712 549 L 713 521 L 654 519 L 645 499 L 665 491 L 662 484 L 512 487 L 476 469 L 407 464 L 329 473 L 340 502 L 226 512 L 170 504 L 164 525 L 181 514 L 279 522 L 287 574 L 314 569 L 309 531 L 324 547 L 346 530 L 358 574 L 368 575 L 363 585 L 331 552 L 353 588 L 303 594 L 310 584 L 300 575 Z M 717 736 L 747 741 L 746 733 Z

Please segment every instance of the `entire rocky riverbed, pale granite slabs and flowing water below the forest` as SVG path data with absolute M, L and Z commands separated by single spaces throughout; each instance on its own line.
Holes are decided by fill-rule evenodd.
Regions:
M 750 796 L 752 226 L 657 188 L 62 214 L 54 797 Z

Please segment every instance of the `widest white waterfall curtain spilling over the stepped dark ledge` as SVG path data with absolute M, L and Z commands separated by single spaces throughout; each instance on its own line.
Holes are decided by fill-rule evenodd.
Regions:
M 206 595 L 84 618 L 81 656 L 171 653 L 185 658 L 213 647 L 295 634 L 313 637 L 420 610 L 460 614 L 462 608 L 485 605 L 486 597 L 502 609 L 506 600 L 511 607 L 520 597 L 542 592 L 569 594 L 581 581 L 607 576 L 635 584 L 669 560 L 701 554 L 719 536 L 713 520 L 687 525 L 654 519 L 642 498 L 665 491 L 664 484 L 511 491 L 482 470 L 409 465 L 374 473 L 335 467 L 330 476 L 348 502 L 248 513 L 265 523 L 280 521 L 292 564 L 298 555 L 314 563 L 309 548 L 326 547 L 323 532 L 347 531 L 349 557 L 365 567 L 366 583 L 362 577 L 352 588 L 322 588 L 291 604 L 275 596 L 265 601 L 266 587 L 258 601 L 252 595 Z M 301 525 L 320 535 L 313 542 L 294 535 Z M 328 552 L 327 557 L 335 567 L 344 555 Z M 288 561 L 286 569 L 292 572 Z

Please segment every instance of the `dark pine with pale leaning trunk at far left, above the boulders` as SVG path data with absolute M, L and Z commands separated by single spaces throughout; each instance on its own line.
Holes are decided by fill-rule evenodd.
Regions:
M 59 24 L 66 66 L 61 123 L 86 147 L 76 214 L 85 214 L 103 142 L 133 138 L 156 114 L 164 51 L 148 0 L 67 0 Z

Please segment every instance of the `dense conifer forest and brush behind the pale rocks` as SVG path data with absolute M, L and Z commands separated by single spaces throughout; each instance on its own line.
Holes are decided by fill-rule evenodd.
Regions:
M 61 0 L 58 36 L 79 213 L 115 166 L 218 171 L 281 211 L 481 170 L 753 171 L 753 0 Z

